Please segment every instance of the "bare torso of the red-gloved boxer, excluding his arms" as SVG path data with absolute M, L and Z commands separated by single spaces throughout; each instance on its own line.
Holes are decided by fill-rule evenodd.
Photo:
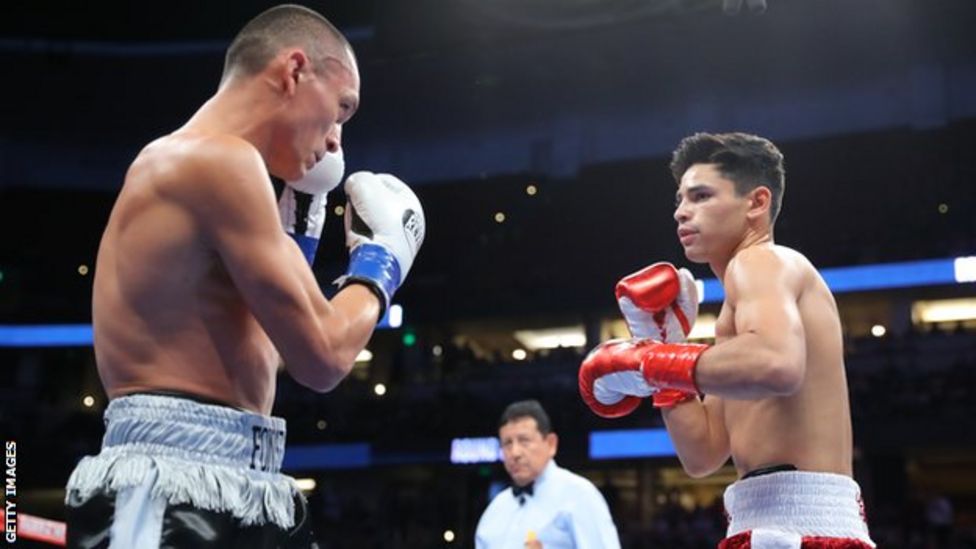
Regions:
M 801 285 L 797 305 L 805 335 L 805 375 L 799 390 L 789 396 L 725 400 L 732 458 L 740 474 L 793 464 L 806 471 L 850 475 L 850 404 L 836 303 L 805 257 L 781 246 L 773 249 Z M 718 342 L 735 334 L 732 314 L 726 304 L 716 323 Z

